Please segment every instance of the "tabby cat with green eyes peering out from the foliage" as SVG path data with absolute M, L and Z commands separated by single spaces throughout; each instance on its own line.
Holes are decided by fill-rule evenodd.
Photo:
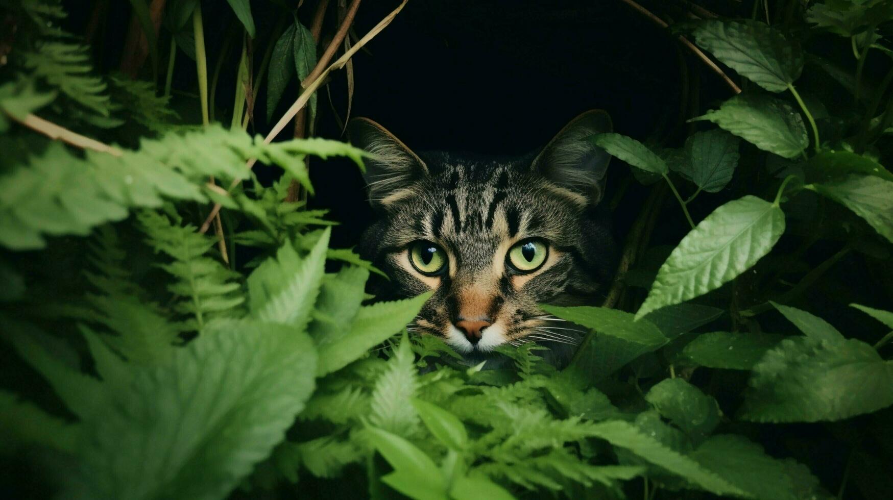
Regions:
M 377 217 L 360 253 L 390 277 L 372 291 L 433 291 L 408 328 L 441 337 L 469 363 L 531 341 L 548 347 L 548 361 L 567 362 L 585 332 L 538 304 L 597 304 L 612 277 L 600 203 L 610 155 L 587 140 L 611 129 L 606 112 L 585 112 L 538 154 L 505 160 L 416 154 L 378 123 L 350 121 L 351 143 L 371 155 L 364 176 Z

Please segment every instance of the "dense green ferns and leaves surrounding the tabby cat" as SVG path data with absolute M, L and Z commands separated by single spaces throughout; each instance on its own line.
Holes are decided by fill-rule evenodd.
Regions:
M 167 74 L 195 61 L 204 126 L 171 108 L 170 77 L 94 71 L 58 2 L 0 2 L 14 27 L 0 40 L 0 491 L 889 493 L 893 3 L 780 2 L 770 18 L 756 1 L 752 19 L 699 8 L 673 27 L 744 91 L 691 117 L 678 147 L 589 138 L 651 196 L 605 304 L 543 305 L 590 329 L 561 371 L 535 343 L 500 349 L 512 370 L 463 366 L 405 331 L 426 296 L 367 302 L 377 270 L 330 248 L 332 222 L 306 206 L 308 157 L 362 168 L 363 153 L 244 131 L 261 87 L 272 114 L 313 72 L 309 23 L 274 3 L 286 21 L 253 46 L 255 4 L 271 5 L 229 0 L 243 37 L 227 128 L 210 124 L 202 4 L 169 0 L 158 36 L 148 3 L 130 4 L 150 33 L 140 74 L 163 80 L 158 38 L 175 40 Z M 828 56 L 840 47 L 848 59 Z M 298 97 L 311 130 L 325 76 Z M 279 180 L 263 185 L 255 162 Z M 686 229 L 660 245 L 658 218 Z

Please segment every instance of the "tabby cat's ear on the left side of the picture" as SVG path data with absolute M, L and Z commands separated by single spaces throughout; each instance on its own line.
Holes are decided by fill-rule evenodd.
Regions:
M 368 118 L 347 123 L 347 137 L 370 156 L 366 166 L 366 186 L 373 205 L 387 206 L 413 193 L 413 183 L 428 174 L 428 167 L 394 134 Z

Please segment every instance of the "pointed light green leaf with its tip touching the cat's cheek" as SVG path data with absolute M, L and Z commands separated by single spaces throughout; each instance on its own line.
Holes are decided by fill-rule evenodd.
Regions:
M 430 294 L 364 305 L 356 313 L 350 327 L 342 335 L 319 338 L 320 362 L 318 375 L 339 370 L 353 362 L 374 346 L 398 333 L 413 321 Z

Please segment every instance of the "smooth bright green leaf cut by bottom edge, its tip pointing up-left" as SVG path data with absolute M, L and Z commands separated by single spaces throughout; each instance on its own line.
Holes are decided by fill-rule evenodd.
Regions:
M 366 432 L 372 446 L 395 470 L 390 479 L 381 478 L 389 487 L 413 498 L 447 498 L 447 483 L 427 454 L 387 430 L 368 428 Z

